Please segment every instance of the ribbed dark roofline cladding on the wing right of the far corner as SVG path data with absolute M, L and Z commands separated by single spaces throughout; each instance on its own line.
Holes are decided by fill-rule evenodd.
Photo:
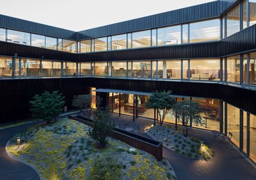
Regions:
M 229 7 L 233 2 L 235 2 L 235 0 L 222 0 L 204 3 L 201 5 L 194 5 L 180 10 L 173 10 L 143 18 L 127 20 L 121 23 L 79 31 L 77 35 L 78 39 L 103 37 L 107 35 L 140 31 L 143 29 L 153 29 L 155 27 L 163 27 L 179 23 L 188 23 L 190 21 L 214 18 L 220 16 L 220 13 L 226 10 L 227 7 Z

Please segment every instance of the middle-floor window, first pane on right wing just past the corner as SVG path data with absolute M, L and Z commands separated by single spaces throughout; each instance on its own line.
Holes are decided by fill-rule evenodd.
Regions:
M 240 82 L 240 56 L 227 58 L 227 81 Z

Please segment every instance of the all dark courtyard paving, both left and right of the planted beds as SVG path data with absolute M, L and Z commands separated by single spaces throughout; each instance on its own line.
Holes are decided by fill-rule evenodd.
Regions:
M 150 138 L 144 133 L 144 127 L 152 125 L 153 121 L 144 118 L 138 118 L 133 122 L 132 117 L 118 114 L 112 114 L 112 121 L 120 128 L 140 126 L 140 135 Z M 22 132 L 37 123 L 29 123 L 16 127 L 9 127 L 0 130 L 0 179 L 40 179 L 36 170 L 17 162 L 10 157 L 5 151 L 5 145 L 18 132 Z M 256 177 L 255 164 L 250 164 L 246 157 L 238 152 L 229 144 L 224 144 L 220 140 L 214 140 L 211 132 L 205 130 L 190 130 L 189 135 L 201 138 L 211 149 L 214 150 L 214 157 L 208 162 L 203 160 L 194 160 L 185 157 L 175 151 L 164 147 L 164 157 L 174 168 L 179 180 L 216 180 L 216 179 L 246 179 L 254 180 Z

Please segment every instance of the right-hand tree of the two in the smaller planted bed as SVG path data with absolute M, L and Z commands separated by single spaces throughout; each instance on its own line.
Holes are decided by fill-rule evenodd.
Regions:
M 183 134 L 184 136 L 188 136 L 188 123 L 196 123 L 199 125 L 203 125 L 205 121 L 203 121 L 200 116 L 200 112 L 202 112 L 202 108 L 198 102 L 183 100 L 177 102 L 175 106 L 173 106 L 172 110 L 177 115 L 177 119 L 184 126 Z

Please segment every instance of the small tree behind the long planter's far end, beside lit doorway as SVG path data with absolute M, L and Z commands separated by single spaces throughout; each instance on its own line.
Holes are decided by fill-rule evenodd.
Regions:
M 101 98 L 91 94 L 75 95 L 73 97 L 72 106 L 79 108 L 81 112 L 84 111 L 84 116 L 90 118 L 92 115 L 91 104 L 93 101 L 99 106 Z

